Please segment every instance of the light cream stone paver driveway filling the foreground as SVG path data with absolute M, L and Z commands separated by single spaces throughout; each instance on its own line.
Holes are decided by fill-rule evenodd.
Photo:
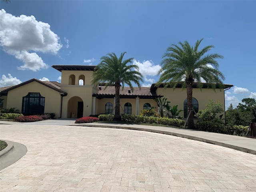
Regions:
M 0 190 L 256 191 L 256 156 L 175 136 L 112 128 L 1 125 L 28 152 L 0 172 Z

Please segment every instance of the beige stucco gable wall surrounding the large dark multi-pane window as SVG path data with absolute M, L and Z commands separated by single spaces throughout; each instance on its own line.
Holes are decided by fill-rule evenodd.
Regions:
M 40 93 L 45 97 L 44 112 L 56 113 L 55 118 L 60 117 L 60 93 L 38 82 L 31 82 L 8 92 L 6 108 L 16 107 L 22 111 L 22 97 L 29 92 Z

